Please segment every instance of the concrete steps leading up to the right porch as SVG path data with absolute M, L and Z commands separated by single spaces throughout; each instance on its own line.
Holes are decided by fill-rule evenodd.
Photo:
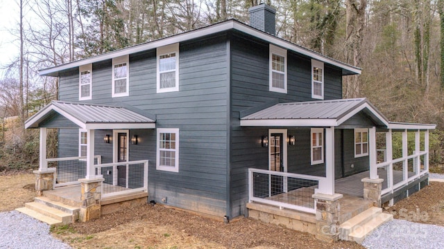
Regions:
M 392 219 L 393 214 L 383 213 L 382 208 L 368 208 L 339 226 L 339 239 L 362 243 L 368 234 Z

